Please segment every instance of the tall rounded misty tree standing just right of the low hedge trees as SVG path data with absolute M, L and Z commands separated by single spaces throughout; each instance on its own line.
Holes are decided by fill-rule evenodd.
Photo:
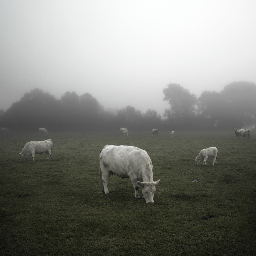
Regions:
M 164 111 L 164 117 L 172 119 L 177 124 L 182 124 L 186 122 L 186 119 L 195 116 L 196 95 L 191 94 L 180 84 L 168 84 L 163 92 L 163 100 L 170 104 L 170 109 Z

